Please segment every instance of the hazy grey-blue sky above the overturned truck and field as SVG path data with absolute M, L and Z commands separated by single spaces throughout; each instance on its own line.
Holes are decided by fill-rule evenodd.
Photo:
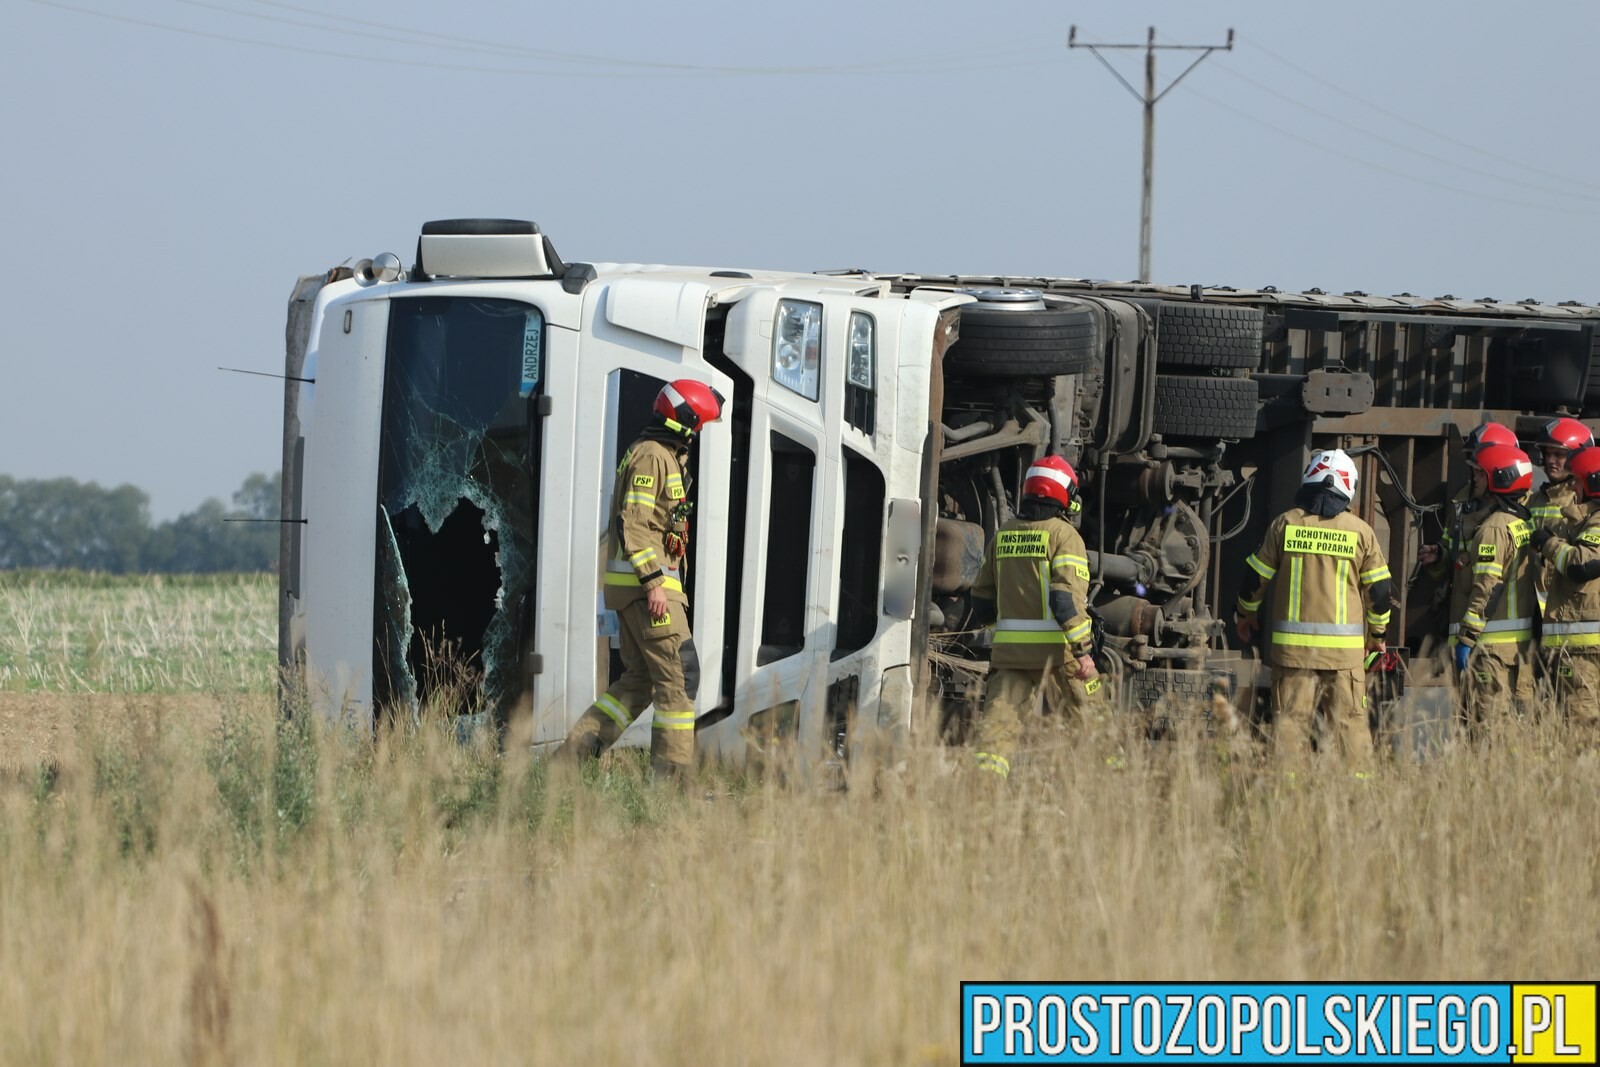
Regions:
M 0 0 L 0 474 L 157 520 L 278 464 L 299 274 L 426 219 L 570 261 L 1138 269 L 1600 302 L 1600 3 Z M 1114 53 L 1134 85 L 1142 53 Z M 1160 85 L 1186 53 L 1160 53 Z

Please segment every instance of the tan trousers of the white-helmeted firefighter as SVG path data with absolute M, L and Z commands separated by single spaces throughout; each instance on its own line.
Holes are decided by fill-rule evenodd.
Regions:
M 1282 758 L 1334 752 L 1352 768 L 1373 765 L 1366 677 L 1357 669 L 1272 669 L 1272 747 Z

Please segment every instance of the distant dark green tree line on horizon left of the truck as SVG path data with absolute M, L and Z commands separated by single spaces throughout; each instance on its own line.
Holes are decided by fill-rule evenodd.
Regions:
M 253 474 L 234 493 L 234 507 L 211 498 L 152 526 L 150 498 L 136 486 L 102 490 L 74 478 L 0 475 L 0 569 L 270 571 L 278 560 L 278 523 L 224 520 L 275 520 L 280 485 L 277 474 Z

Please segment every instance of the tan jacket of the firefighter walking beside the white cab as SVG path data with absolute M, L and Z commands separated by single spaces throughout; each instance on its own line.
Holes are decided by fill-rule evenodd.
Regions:
M 640 437 L 622 456 L 611 490 L 611 552 L 605 568 L 605 605 L 616 609 L 664 585 L 667 601 L 688 603 L 683 593 L 683 547 L 688 542 L 690 478 L 683 469 L 688 442 Z M 675 534 L 675 537 L 669 536 Z

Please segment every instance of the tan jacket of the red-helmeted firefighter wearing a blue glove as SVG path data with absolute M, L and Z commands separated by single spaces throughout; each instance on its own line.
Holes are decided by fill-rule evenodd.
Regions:
M 1538 614 L 1531 536 L 1533 523 L 1522 501 L 1498 501 L 1478 525 L 1467 550 L 1472 585 L 1456 627 L 1456 640 L 1462 645 L 1528 649 Z

